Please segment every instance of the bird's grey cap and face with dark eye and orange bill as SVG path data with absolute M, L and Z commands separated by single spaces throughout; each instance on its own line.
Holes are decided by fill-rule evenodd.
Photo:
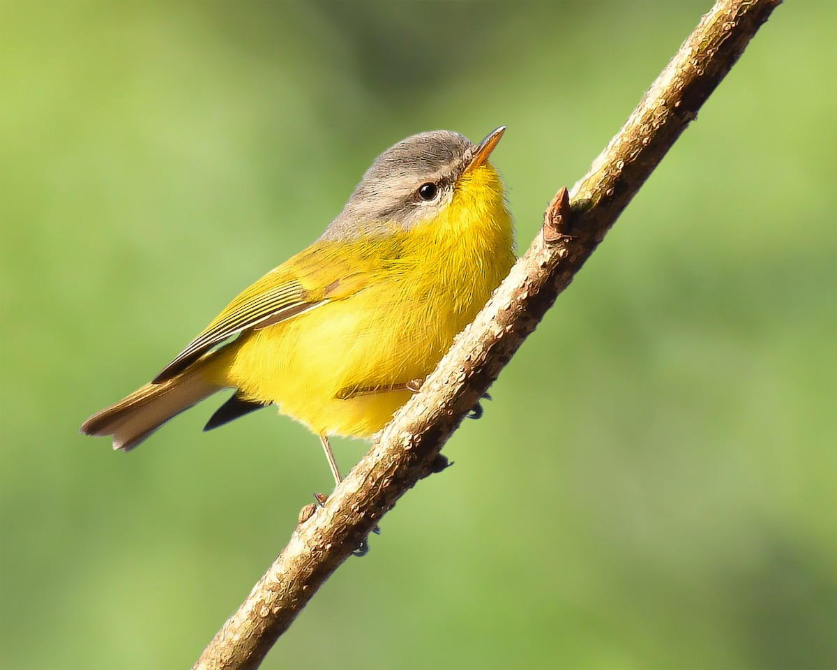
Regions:
M 454 184 L 484 164 L 505 126 L 475 145 L 452 131 L 413 135 L 377 157 L 320 240 L 352 240 L 410 229 L 450 204 Z

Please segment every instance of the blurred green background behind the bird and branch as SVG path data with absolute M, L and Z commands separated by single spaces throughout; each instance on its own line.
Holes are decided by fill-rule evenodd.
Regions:
M 216 402 L 127 456 L 80 422 L 414 132 L 508 126 L 525 249 L 710 7 L 4 0 L 0 665 L 190 666 L 320 446 L 204 435 Z M 835 24 L 778 8 L 264 667 L 837 666 Z

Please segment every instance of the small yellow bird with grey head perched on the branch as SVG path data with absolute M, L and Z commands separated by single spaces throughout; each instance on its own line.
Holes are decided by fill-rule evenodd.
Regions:
M 235 297 L 157 376 L 90 416 L 85 435 L 131 451 L 223 389 L 212 430 L 274 405 L 320 438 L 383 429 L 516 260 L 490 153 L 454 131 L 408 137 L 372 163 L 311 246 Z

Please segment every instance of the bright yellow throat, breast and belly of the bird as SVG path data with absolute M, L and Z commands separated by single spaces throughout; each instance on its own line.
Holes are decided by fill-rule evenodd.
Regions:
M 363 240 L 365 287 L 244 333 L 223 357 L 226 383 L 316 433 L 381 430 L 410 396 L 403 385 L 434 369 L 511 269 L 513 225 L 503 198 L 499 176 L 485 164 L 456 184 L 436 218 Z M 357 253 L 357 245 L 345 249 Z M 351 266 L 347 260 L 341 266 Z

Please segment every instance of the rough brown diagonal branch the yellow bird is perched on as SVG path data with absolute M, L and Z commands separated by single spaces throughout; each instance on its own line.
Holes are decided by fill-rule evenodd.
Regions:
M 326 503 L 303 510 L 289 544 L 195 668 L 258 667 L 383 514 L 419 479 L 444 468 L 439 450 L 449 435 L 573 281 L 779 2 L 720 0 L 701 19 L 573 192 L 563 188 L 553 198 L 529 250 L 420 392 Z

